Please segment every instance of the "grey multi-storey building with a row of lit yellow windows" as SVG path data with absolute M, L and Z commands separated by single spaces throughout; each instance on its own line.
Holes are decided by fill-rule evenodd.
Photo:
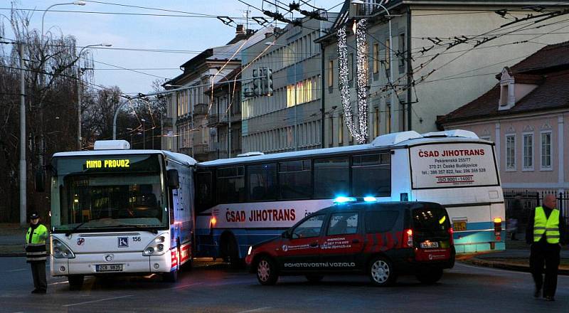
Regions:
M 330 21 L 303 18 L 302 26 L 275 29 L 243 52 L 243 152 L 320 147 L 322 67 L 314 40 Z M 253 95 L 253 71 L 261 68 L 272 70 L 270 95 Z

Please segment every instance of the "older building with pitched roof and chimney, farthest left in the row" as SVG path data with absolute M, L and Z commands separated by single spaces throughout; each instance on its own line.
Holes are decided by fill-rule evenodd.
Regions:
M 265 33 L 271 31 L 271 27 L 265 27 L 254 32 L 238 25 L 235 38 L 228 44 L 208 48 L 180 66 L 184 73 L 164 84 L 167 90 L 173 90 L 167 94 L 164 149 L 188 154 L 198 161 L 216 157 L 210 153 L 211 129 L 208 127 L 214 102 L 211 87 L 241 67 L 241 50 L 262 41 Z M 211 92 L 206 95 L 206 90 Z

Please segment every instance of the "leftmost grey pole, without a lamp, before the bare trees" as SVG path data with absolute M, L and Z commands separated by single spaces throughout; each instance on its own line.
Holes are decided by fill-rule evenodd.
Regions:
M 26 77 L 23 73 L 23 43 L 18 42 L 20 54 L 20 226 L 26 226 Z

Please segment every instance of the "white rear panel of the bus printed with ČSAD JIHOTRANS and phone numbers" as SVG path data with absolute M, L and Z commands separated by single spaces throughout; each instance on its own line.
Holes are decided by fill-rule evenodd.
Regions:
M 498 184 L 489 144 L 430 144 L 409 150 L 414 189 Z

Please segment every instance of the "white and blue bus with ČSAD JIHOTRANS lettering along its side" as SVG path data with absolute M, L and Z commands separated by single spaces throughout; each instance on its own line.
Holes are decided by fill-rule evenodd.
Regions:
M 504 250 L 504 198 L 494 144 L 473 132 L 400 132 L 371 144 L 199 163 L 198 253 L 239 260 L 339 196 L 441 203 L 457 255 Z

